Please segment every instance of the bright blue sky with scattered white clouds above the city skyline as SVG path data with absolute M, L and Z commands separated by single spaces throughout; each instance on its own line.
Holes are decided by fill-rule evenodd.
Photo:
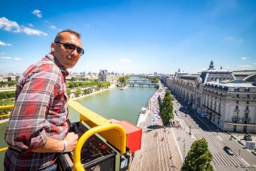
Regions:
M 73 72 L 256 69 L 254 0 L 19 0 L 1 2 L 0 72 L 22 73 L 67 28 L 85 49 Z

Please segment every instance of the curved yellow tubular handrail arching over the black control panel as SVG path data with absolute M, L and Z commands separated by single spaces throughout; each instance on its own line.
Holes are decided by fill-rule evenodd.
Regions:
M 118 132 L 120 132 L 120 137 L 122 140 L 121 143 L 121 154 L 124 154 L 126 152 L 126 142 L 127 142 L 127 136 L 124 128 L 121 125 L 118 125 L 117 123 L 109 123 L 102 126 L 96 126 L 92 129 L 89 129 L 86 131 L 77 141 L 77 145 L 74 149 L 74 155 L 73 155 L 73 163 L 74 163 L 74 169 L 79 171 L 85 171 L 83 165 L 81 164 L 81 149 L 83 147 L 83 144 L 86 142 L 88 138 L 90 138 L 92 135 L 98 132 L 104 132 L 109 129 L 116 129 Z

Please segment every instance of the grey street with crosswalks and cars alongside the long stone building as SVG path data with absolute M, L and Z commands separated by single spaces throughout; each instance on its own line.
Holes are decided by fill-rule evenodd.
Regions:
M 174 109 L 177 110 L 179 116 L 175 116 L 174 120 L 179 120 L 182 128 L 173 128 L 176 142 L 179 144 L 181 155 L 186 156 L 191 148 L 193 141 L 205 138 L 208 141 L 208 148 L 213 155 L 212 164 L 214 170 L 233 171 L 233 170 L 256 170 L 256 157 L 249 149 L 244 149 L 237 140 L 243 135 L 233 135 L 237 140 L 230 137 L 226 132 L 217 132 L 217 126 L 208 119 L 201 117 L 191 106 L 187 106 L 185 102 L 173 100 Z M 181 107 L 183 106 L 183 107 Z M 188 109 L 185 109 L 185 106 Z M 188 111 L 185 114 L 184 111 Z M 191 135 L 189 134 L 191 132 Z M 256 140 L 256 136 L 254 140 Z M 228 155 L 224 150 L 224 146 L 229 146 L 234 155 Z

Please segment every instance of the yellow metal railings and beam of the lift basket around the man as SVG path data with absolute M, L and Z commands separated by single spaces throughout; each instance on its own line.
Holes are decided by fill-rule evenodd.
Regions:
M 84 106 L 80 105 L 80 103 L 69 101 L 68 106 L 72 107 L 80 114 L 80 122 L 86 123 L 88 126 L 91 127 L 88 131 L 86 131 L 80 139 L 77 141 L 77 146 L 74 149 L 74 168 L 76 170 L 85 170 L 83 165 L 81 164 L 80 152 L 83 147 L 83 143 L 86 142 L 88 138 L 90 138 L 95 133 L 98 133 L 103 138 L 106 139 L 112 146 L 119 149 L 121 154 L 126 152 L 126 143 L 127 143 L 127 135 L 124 130 L 124 127 L 116 124 L 111 123 L 106 118 L 101 117 L 99 114 L 86 109 Z M 10 106 L 0 106 L 0 109 L 7 109 L 12 108 L 13 105 Z M 7 117 L 10 114 L 1 115 L 1 117 Z M 0 149 L 0 152 L 7 150 L 7 147 Z

